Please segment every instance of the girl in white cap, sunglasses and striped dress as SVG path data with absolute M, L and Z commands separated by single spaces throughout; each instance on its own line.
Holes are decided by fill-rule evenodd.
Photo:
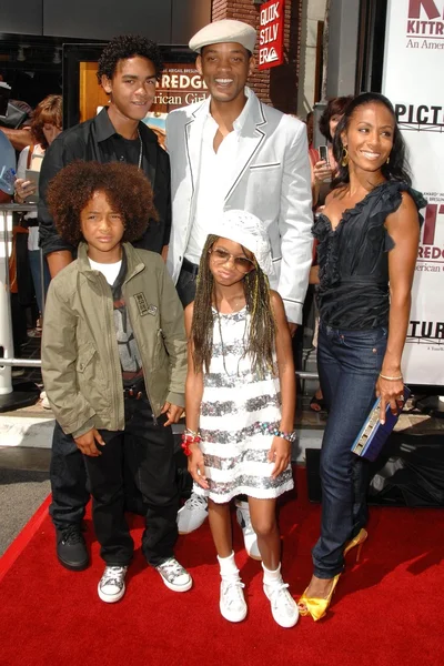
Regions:
M 209 500 L 221 567 L 220 609 L 246 616 L 232 548 L 230 501 L 249 497 L 262 557 L 263 588 L 275 622 L 292 627 L 297 606 L 281 575 L 276 497 L 293 487 L 295 376 L 281 296 L 270 290 L 270 242 L 262 222 L 226 211 L 203 249 L 189 336 L 183 448 L 194 492 Z

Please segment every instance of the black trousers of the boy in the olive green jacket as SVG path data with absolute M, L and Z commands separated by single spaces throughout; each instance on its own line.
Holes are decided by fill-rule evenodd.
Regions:
M 84 456 L 100 554 L 112 566 L 131 562 L 133 541 L 124 516 L 124 467 L 132 474 L 147 506 L 142 551 L 152 566 L 173 556 L 178 538 L 178 488 L 171 427 L 162 415 L 154 422 L 147 397 L 125 398 L 125 430 L 100 431 L 102 455 Z

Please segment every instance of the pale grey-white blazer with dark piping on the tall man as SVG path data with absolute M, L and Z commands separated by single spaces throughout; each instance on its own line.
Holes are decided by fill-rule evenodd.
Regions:
M 303 122 L 260 102 L 252 90 L 249 113 L 233 154 L 235 167 L 224 210 L 249 211 L 266 225 L 274 276 L 289 321 L 302 323 L 312 262 L 312 192 L 306 128 Z M 171 160 L 172 229 L 168 268 L 174 283 L 190 238 L 200 171 L 202 130 L 210 99 L 171 111 L 167 144 Z

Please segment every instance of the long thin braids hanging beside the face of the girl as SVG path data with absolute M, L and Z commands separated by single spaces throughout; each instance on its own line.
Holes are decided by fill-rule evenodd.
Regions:
M 202 251 L 194 299 L 191 340 L 195 372 L 209 372 L 213 349 L 214 278 L 210 270 L 209 250 L 220 236 L 209 235 Z M 261 376 L 266 371 L 275 372 L 276 323 L 271 305 L 269 279 L 254 260 L 255 269 L 244 278 L 246 312 L 251 315 L 244 356 L 252 359 L 252 371 Z

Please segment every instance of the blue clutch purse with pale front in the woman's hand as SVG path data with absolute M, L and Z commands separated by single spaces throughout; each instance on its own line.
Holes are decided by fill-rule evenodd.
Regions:
M 410 389 L 404 386 L 404 402 L 410 397 Z M 385 423 L 383 425 L 380 423 L 380 414 L 381 398 L 379 397 L 351 448 L 352 453 L 365 457 L 371 462 L 375 461 L 380 455 L 382 447 L 398 420 L 401 410 L 397 414 L 392 414 L 390 405 L 387 405 L 385 410 Z

